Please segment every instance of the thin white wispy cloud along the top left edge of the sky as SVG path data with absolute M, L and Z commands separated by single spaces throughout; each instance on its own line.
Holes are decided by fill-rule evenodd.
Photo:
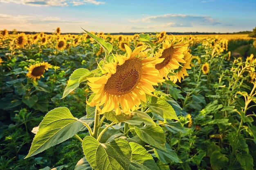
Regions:
M 105 4 L 105 2 L 97 0 L 0 0 L 4 3 L 16 3 L 16 4 L 25 4 L 31 6 L 78 6 L 86 4 Z

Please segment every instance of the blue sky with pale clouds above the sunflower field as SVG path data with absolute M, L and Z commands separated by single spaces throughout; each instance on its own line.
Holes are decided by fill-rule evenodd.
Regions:
M 0 30 L 57 27 L 62 33 L 252 31 L 256 0 L 0 0 Z

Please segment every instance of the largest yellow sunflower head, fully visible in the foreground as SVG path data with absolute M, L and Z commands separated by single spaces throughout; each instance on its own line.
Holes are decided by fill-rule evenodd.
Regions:
M 164 81 L 155 69 L 155 64 L 163 59 L 159 59 L 159 56 L 147 57 L 144 51 L 147 46 L 139 46 L 133 51 L 129 46 L 124 46 L 124 56 L 116 54 L 116 62 L 103 65 L 106 74 L 88 78 L 88 85 L 95 93 L 88 105 L 96 105 L 100 113 L 115 109 L 118 115 L 121 105 L 123 112 L 130 115 L 141 104 L 141 100 L 146 102 L 146 94 L 152 95 L 155 90 L 153 85 Z

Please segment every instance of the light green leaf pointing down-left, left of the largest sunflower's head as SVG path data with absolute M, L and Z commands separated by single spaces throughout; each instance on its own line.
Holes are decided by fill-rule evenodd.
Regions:
M 91 72 L 86 68 L 78 68 L 70 75 L 67 82 L 67 86 L 63 92 L 62 98 L 65 98 L 70 92 L 72 92 L 76 87 L 79 87 L 80 83 L 85 81 Z M 61 98 L 61 99 L 62 99 Z

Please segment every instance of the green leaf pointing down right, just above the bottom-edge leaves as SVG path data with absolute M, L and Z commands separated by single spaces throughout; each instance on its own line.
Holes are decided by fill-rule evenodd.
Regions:
M 164 144 L 166 142 L 164 131 L 158 124 L 155 125 L 156 126 L 144 126 L 141 128 L 134 126 L 134 129 L 139 138 L 141 138 L 141 140 L 144 142 L 156 148 L 166 150 Z

